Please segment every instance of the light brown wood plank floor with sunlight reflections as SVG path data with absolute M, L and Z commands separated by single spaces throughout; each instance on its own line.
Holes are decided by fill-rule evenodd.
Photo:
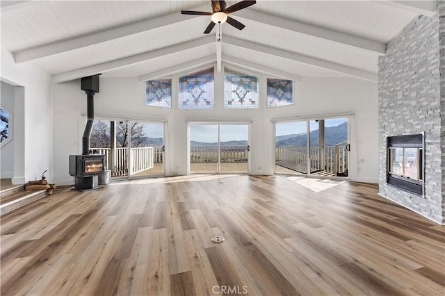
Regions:
M 1 295 L 444 295 L 444 227 L 376 192 L 284 175 L 60 190 L 1 217 Z

